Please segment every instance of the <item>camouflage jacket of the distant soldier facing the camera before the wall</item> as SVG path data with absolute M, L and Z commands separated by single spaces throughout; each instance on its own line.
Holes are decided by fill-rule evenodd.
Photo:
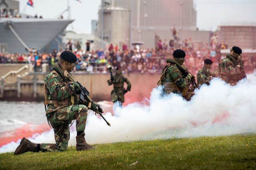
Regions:
M 123 89 L 124 88 L 124 82 L 127 84 L 127 91 L 131 90 L 131 82 L 126 78 L 122 73 L 120 75 L 113 75 L 113 81 L 108 80 L 108 85 L 113 85 L 114 89 Z

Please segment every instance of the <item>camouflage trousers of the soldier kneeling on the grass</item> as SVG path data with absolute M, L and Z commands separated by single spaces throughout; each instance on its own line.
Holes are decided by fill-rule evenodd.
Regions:
M 56 144 L 41 143 L 40 148 L 43 152 L 55 152 L 67 150 L 69 143 L 69 124 L 76 120 L 76 130 L 85 130 L 87 120 L 87 107 L 85 105 L 64 106 L 46 116 L 54 129 Z

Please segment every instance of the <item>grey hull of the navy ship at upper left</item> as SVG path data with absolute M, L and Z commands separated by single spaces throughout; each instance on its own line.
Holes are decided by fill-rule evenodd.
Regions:
M 41 50 L 72 22 L 73 20 L 0 18 L 0 43 L 7 44 L 9 53 L 28 53 L 8 27 L 8 23 L 10 23 L 28 47 Z

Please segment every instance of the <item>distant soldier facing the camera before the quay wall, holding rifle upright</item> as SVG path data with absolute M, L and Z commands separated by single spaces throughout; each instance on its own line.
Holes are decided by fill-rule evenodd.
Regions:
M 111 91 L 111 100 L 114 103 L 123 103 L 125 93 L 131 90 L 131 82 L 123 75 L 120 67 L 116 68 L 116 73 L 111 79 L 108 80 L 108 85 L 114 86 L 114 89 Z M 124 82 L 127 84 L 126 89 L 123 87 Z

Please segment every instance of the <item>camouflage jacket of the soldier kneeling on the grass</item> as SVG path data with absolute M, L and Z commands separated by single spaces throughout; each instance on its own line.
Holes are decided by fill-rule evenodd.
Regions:
M 63 70 L 59 63 L 54 64 L 54 70 L 49 72 L 44 83 L 45 105 L 48 105 L 46 114 L 67 105 L 78 104 L 75 86 L 72 81 L 64 80 Z

